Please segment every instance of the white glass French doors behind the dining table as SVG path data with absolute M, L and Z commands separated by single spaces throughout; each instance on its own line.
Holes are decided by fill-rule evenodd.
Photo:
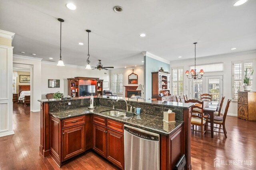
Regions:
M 190 81 L 190 98 L 200 100 L 200 95 L 212 94 L 212 101 L 220 101 L 223 96 L 223 76 L 203 76 Z

